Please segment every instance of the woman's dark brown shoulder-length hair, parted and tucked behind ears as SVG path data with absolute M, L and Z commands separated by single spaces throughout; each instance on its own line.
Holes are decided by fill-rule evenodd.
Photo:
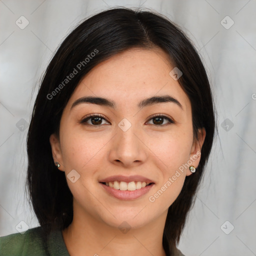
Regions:
M 103 60 L 132 47 L 160 47 L 169 55 L 172 66 L 182 71 L 178 82 L 191 103 L 194 139 L 198 139 L 199 128 L 206 130 L 196 172 L 186 176 L 180 194 L 168 209 L 162 243 L 165 253 L 171 255 L 209 157 L 215 116 L 209 81 L 198 53 L 184 32 L 163 15 L 149 10 L 110 8 L 83 21 L 64 39 L 47 66 L 34 103 L 27 134 L 26 184 L 45 235 L 71 223 L 72 194 L 65 173 L 54 165 L 49 136 L 58 134 L 62 111 L 84 75 Z M 95 49 L 97 53 L 86 61 Z M 83 65 L 78 68 L 78 63 Z M 78 73 L 59 86 L 75 67 Z

